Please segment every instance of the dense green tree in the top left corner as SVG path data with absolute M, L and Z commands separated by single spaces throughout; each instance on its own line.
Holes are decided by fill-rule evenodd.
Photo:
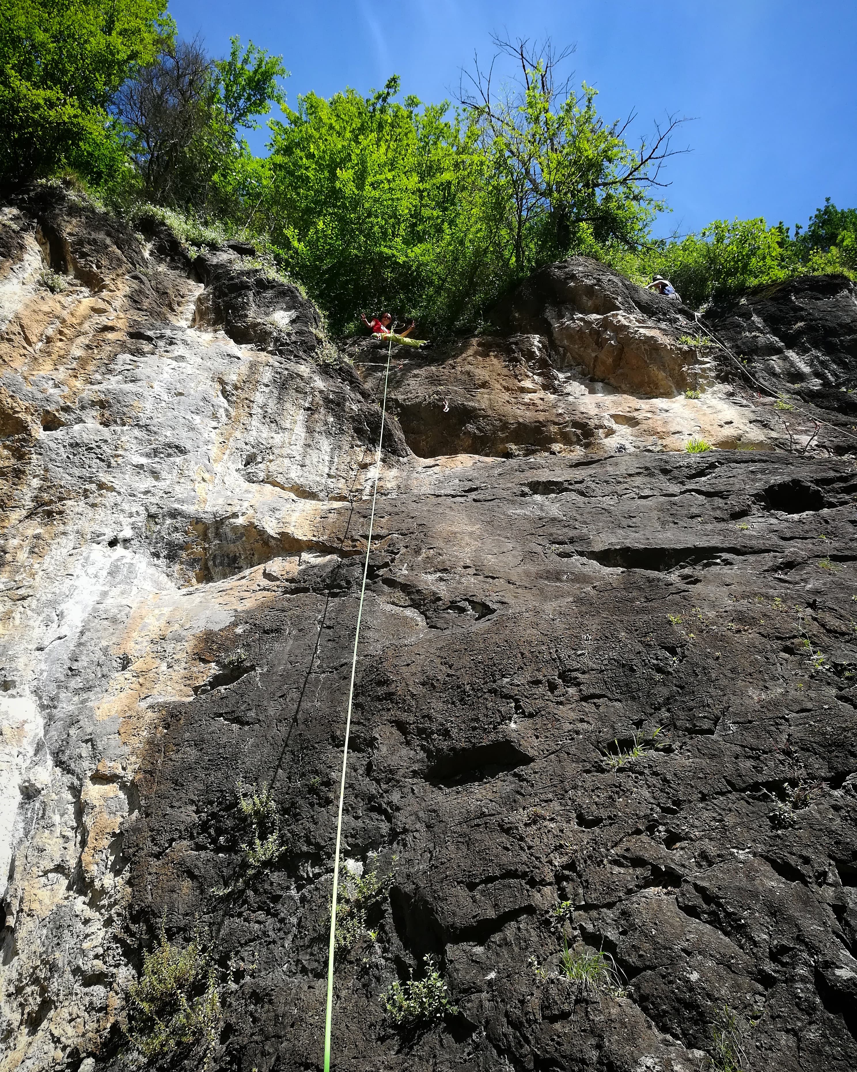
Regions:
M 0 0 L 0 185 L 121 167 L 112 95 L 171 33 L 166 0 Z

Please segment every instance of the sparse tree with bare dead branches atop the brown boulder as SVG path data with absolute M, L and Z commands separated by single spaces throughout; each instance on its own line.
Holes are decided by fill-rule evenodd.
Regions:
M 550 40 L 494 43 L 494 62 L 487 72 L 475 63 L 462 103 L 488 161 L 495 224 L 514 276 L 574 252 L 637 248 L 663 207 L 651 191 L 663 185 L 661 168 L 681 120 L 668 119 L 633 150 L 626 140 L 633 115 L 607 124 L 595 89 L 584 83 L 573 92 L 570 78 L 558 80 L 570 48 L 557 54 Z M 521 73 L 497 89 L 494 66 L 503 56 Z

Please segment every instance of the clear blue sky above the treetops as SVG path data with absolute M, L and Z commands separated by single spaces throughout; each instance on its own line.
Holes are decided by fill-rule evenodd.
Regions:
M 632 108 L 640 133 L 693 117 L 668 167 L 661 234 L 712 219 L 806 224 L 829 196 L 857 207 L 857 0 L 172 0 L 182 36 L 222 55 L 239 34 L 291 72 L 290 104 L 390 74 L 424 101 L 454 95 L 492 31 L 576 44 L 569 70 L 599 91 L 604 118 Z M 265 132 L 253 138 L 262 151 Z

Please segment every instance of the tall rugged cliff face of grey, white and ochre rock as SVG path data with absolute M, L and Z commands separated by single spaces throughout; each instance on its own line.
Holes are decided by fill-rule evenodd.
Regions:
M 162 932 L 220 1012 L 148 1067 L 318 1068 L 386 351 L 252 251 L 2 211 L 0 1068 L 133 1063 Z M 334 1064 L 846 1072 L 854 288 L 715 310 L 737 363 L 582 259 L 495 319 L 394 354 Z

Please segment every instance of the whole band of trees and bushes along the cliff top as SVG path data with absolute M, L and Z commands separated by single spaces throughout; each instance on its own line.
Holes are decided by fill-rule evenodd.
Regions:
M 478 331 L 505 292 L 575 253 L 637 282 L 664 274 L 697 308 L 805 272 L 857 273 L 857 209 L 829 198 L 794 235 L 716 220 L 656 240 L 683 120 L 632 142 L 633 113 L 608 122 L 591 87 L 560 76 L 572 49 L 494 46 L 454 104 L 401 98 L 393 75 L 367 96 L 310 92 L 289 107 L 282 57 L 232 38 L 212 58 L 177 38 L 166 0 L 0 0 L 0 188 L 72 169 L 118 211 L 154 206 L 197 235 L 252 237 L 336 331 L 381 309 L 433 336 Z M 245 132 L 272 110 L 268 154 L 254 155 Z

